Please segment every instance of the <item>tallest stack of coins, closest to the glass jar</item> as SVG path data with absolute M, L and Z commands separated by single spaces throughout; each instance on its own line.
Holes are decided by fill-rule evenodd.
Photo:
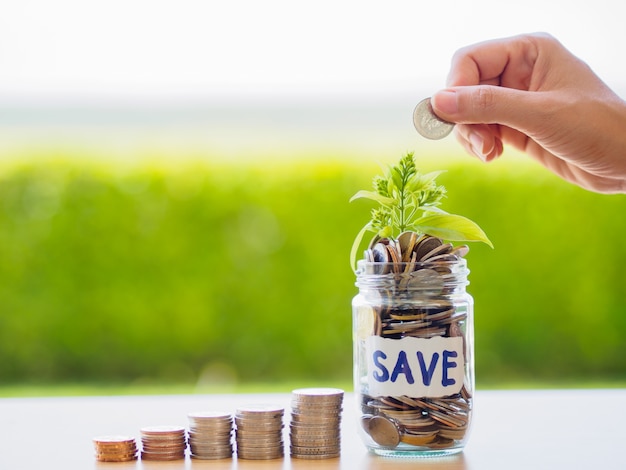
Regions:
M 341 453 L 343 390 L 303 388 L 291 399 L 291 456 L 332 459 Z

